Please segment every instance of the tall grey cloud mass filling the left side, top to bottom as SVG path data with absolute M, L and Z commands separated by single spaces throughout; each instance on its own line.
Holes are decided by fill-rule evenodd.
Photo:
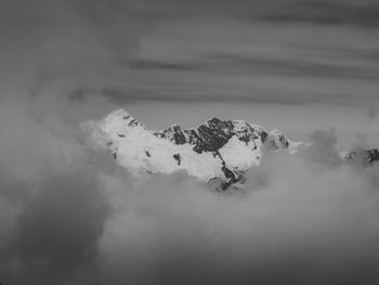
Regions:
M 94 167 L 78 126 L 109 105 L 71 90 L 105 78 L 115 53 L 64 1 L 0 5 L 0 282 L 93 284 L 107 160 Z

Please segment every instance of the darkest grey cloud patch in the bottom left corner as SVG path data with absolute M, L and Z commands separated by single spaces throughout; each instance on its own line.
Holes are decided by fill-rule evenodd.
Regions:
M 87 270 L 90 275 L 80 277 L 92 280 L 97 239 L 108 215 L 95 177 L 83 172 L 52 176 L 37 191 L 16 221 L 11 248 L 22 271 L 11 282 L 63 284 Z

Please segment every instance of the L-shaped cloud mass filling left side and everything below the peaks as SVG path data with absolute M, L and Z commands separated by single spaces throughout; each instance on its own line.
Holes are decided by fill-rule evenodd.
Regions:
M 132 86 L 119 63 L 141 30 L 67 3 L 1 2 L 2 284 L 378 283 L 378 166 L 336 163 L 332 133 L 223 194 L 186 173 L 135 181 L 91 152 L 78 126 L 125 99 L 94 90 Z

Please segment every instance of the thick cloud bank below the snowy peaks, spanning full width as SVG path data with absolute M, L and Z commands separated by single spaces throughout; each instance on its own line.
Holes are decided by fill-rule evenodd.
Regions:
M 1 112 L 3 284 L 378 282 L 379 169 L 341 165 L 332 131 L 218 193 L 183 172 L 133 179 L 74 124 L 96 100 L 41 99 L 71 120 L 36 118 L 37 99 Z

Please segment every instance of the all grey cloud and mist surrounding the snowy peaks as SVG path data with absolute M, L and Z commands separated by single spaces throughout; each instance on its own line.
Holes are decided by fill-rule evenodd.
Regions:
M 377 284 L 379 168 L 337 155 L 379 145 L 377 4 L 280 3 L 2 1 L 0 282 Z M 136 180 L 79 128 L 119 107 L 313 146 L 239 192 Z

